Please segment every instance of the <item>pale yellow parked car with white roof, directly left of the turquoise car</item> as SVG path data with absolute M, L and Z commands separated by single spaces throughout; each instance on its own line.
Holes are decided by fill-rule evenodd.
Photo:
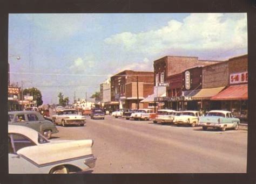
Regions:
M 175 116 L 173 123 L 176 123 L 177 126 L 181 124 L 187 124 L 191 127 L 198 125 L 199 111 L 183 111 L 180 112 L 179 116 Z

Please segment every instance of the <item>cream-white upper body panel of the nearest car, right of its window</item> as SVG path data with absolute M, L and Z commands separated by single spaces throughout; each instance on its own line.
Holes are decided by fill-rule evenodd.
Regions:
M 50 141 L 50 143 L 24 147 L 17 153 L 42 165 L 92 154 L 92 142 L 90 139 Z

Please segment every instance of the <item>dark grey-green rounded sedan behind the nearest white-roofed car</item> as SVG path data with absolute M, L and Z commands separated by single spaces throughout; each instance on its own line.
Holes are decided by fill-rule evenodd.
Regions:
M 27 126 L 42 133 L 48 139 L 51 138 L 52 133 L 58 132 L 52 122 L 45 120 L 39 112 L 35 111 L 8 112 L 8 124 Z

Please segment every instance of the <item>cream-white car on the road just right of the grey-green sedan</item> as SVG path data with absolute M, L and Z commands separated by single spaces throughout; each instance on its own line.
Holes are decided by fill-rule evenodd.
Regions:
M 76 109 L 59 110 L 56 115 L 52 116 L 52 122 L 56 125 L 80 125 L 84 126 L 86 117 L 79 115 Z

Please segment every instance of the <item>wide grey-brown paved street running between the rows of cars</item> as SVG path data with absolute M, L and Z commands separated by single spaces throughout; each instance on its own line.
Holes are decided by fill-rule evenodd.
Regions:
M 93 173 L 245 173 L 247 131 L 177 127 L 106 116 L 57 126 L 54 139 L 93 139 Z

